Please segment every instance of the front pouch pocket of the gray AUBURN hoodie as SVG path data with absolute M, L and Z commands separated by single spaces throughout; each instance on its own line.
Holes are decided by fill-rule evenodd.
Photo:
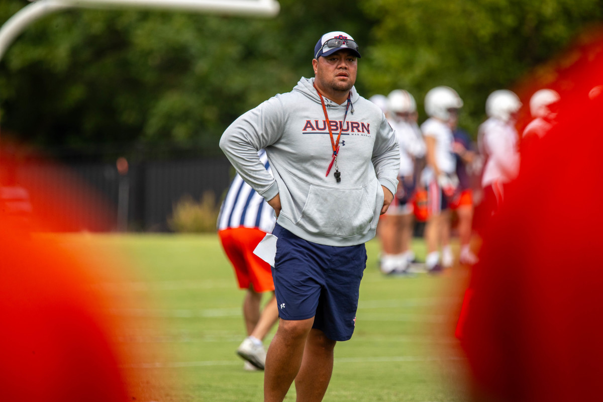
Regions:
M 361 189 L 310 186 L 296 224 L 310 233 L 351 237 L 367 234 L 379 221 L 383 193 L 373 180 Z M 380 186 L 379 186 L 380 187 Z M 381 205 L 377 203 L 381 198 Z

